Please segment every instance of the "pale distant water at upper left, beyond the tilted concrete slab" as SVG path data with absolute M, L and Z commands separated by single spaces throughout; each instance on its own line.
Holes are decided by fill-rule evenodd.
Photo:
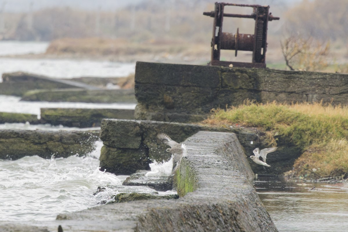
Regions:
M 39 54 L 48 44 L 39 42 L 0 42 L 0 55 Z M 52 78 L 125 77 L 135 72 L 135 63 L 75 59 L 23 59 L 0 57 L 0 82 L 6 72 L 29 72 Z

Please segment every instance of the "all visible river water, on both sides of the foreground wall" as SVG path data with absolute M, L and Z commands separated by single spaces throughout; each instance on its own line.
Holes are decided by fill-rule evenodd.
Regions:
M 0 41 L 0 56 L 42 53 L 47 43 Z M 121 77 L 134 73 L 134 63 L 98 62 L 69 59 L 16 59 L 0 57 L 0 75 L 26 71 L 57 78 L 81 76 Z M 88 107 L 134 109 L 135 104 L 92 104 L 21 102 L 14 96 L 0 95 L 0 111 L 40 114 L 40 107 Z M 83 130 L 51 125 L 25 123 L 0 124 L 0 129 Z M 86 128 L 91 129 L 91 128 Z M 94 128 L 98 129 L 98 128 Z M 99 167 L 102 142 L 85 157 L 42 159 L 37 156 L 19 160 L 0 160 L 0 221 L 54 220 L 59 213 L 86 209 L 111 195 L 136 191 L 125 189 L 126 176 L 101 172 Z M 150 175 L 163 169 L 152 167 Z M 254 182 L 259 197 L 280 232 L 348 231 L 348 185 L 319 183 L 286 183 L 274 179 Z M 98 186 L 106 191 L 93 195 Z M 113 187 L 112 187 L 113 186 Z M 115 186 L 117 186 L 115 188 Z M 312 189 L 315 187 L 314 189 Z M 141 189 L 151 192 L 151 189 Z M 56 227 L 55 227 L 56 228 Z

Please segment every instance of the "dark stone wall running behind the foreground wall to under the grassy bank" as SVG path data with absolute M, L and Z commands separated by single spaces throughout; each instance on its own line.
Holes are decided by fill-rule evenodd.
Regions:
M 141 169 L 148 170 L 149 163 L 153 160 L 168 161 L 171 157 L 171 153 L 166 152 L 169 146 L 157 141 L 158 133 L 166 133 L 174 141 L 181 143 L 201 130 L 236 133 L 246 157 L 252 155 L 256 147 L 268 147 L 268 144 L 264 143 L 264 135 L 256 128 L 214 128 L 177 122 L 105 119 L 102 121 L 100 134 L 104 143 L 100 156 L 101 169 L 117 175 L 129 175 Z M 279 149 L 267 157 L 272 167 L 265 170 L 248 159 L 254 173 L 282 175 L 285 171 L 291 170 L 301 151 L 298 147 L 285 143 L 282 138 L 278 138 L 277 142 Z

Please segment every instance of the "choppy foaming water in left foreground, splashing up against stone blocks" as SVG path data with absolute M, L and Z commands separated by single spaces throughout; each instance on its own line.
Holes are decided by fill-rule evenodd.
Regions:
M 86 157 L 0 160 L 0 219 L 53 220 L 95 205 L 98 186 L 121 185 L 117 176 L 99 170 L 101 146 L 97 142 Z

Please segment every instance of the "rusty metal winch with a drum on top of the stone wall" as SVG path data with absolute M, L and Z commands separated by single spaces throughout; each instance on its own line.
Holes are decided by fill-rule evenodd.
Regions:
M 252 7 L 253 13 L 251 15 L 225 14 L 223 12 L 225 6 Z M 269 6 L 215 2 L 215 11 L 204 12 L 203 15 L 214 17 L 211 65 L 266 67 L 268 21 L 279 20 L 279 17 L 273 17 L 269 13 Z M 223 17 L 253 18 L 255 20 L 255 34 L 240 34 L 239 28 L 236 34 L 222 32 Z M 235 50 L 236 56 L 238 50 L 252 51 L 252 63 L 220 61 L 221 49 Z

